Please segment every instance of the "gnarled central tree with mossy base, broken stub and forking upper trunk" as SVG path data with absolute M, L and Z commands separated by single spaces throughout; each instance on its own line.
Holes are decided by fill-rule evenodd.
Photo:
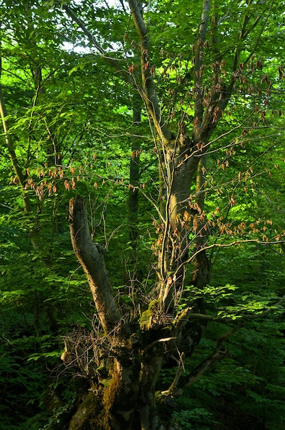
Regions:
M 190 124 L 186 120 L 189 107 L 184 108 L 184 100 L 180 100 L 182 107 L 176 130 L 173 130 L 173 125 L 162 114 L 155 82 L 158 65 L 151 52 L 151 30 L 144 19 L 143 3 L 128 1 L 137 32 L 136 45 L 140 51 L 140 71 L 137 71 L 138 65 L 131 65 L 128 75 L 95 41 L 95 36 L 87 30 L 81 19 L 75 16 L 73 10 L 63 5 L 66 13 L 81 27 L 106 61 L 121 73 L 122 78 L 134 91 L 138 91 L 143 99 L 155 135 L 154 146 L 161 171 L 160 198 L 164 199 L 163 210 L 158 209 L 158 283 L 145 297 L 149 301 L 147 310 L 140 315 L 133 315 L 129 310 L 127 319 L 126 315 L 119 315 L 118 308 L 113 310 L 113 304 L 106 306 L 104 303 L 105 297 L 112 296 L 108 282 L 101 280 L 99 275 L 92 277 L 90 271 L 86 270 L 84 254 L 86 252 L 86 255 L 92 255 L 87 248 L 86 237 L 89 234 L 86 210 L 82 199 L 71 201 L 73 247 L 77 255 L 80 255 L 79 261 L 88 275 L 92 291 L 94 288 L 97 291 L 97 311 L 104 336 L 108 335 L 110 339 L 106 354 L 108 357 L 113 356 L 110 380 L 101 394 L 103 403 L 99 416 L 105 429 L 161 428 L 155 400 L 156 381 L 160 370 L 170 355 L 177 355 L 177 361 L 190 357 L 201 339 L 201 331 L 207 318 L 203 318 L 203 300 L 193 299 L 191 289 L 185 290 L 186 263 L 193 262 L 190 284 L 194 291 L 202 291 L 209 282 L 210 271 L 210 261 L 205 249 L 209 223 L 204 203 L 206 157 L 212 150 L 210 138 L 236 91 L 237 83 L 247 83 L 248 74 L 258 67 L 258 63 L 253 66 L 253 59 L 264 28 L 273 14 L 273 1 L 266 5 L 253 3 L 249 2 L 246 8 L 240 4 L 236 5 L 240 12 L 240 25 L 238 29 L 228 30 L 232 33 L 234 30 L 238 31 L 235 32 L 236 46 L 232 46 L 230 58 L 227 58 L 230 67 L 227 65 L 226 68 L 225 53 L 219 40 L 223 34 L 223 20 L 227 18 L 223 16 L 220 4 L 213 2 L 211 5 L 210 0 L 203 1 L 200 23 L 193 41 L 193 67 L 178 78 L 178 82 L 182 82 L 182 88 L 187 87 L 186 80 L 193 82 L 193 122 Z M 229 14 L 230 11 L 227 10 L 226 13 Z M 209 65 L 210 61 L 212 64 Z M 248 64 L 251 64 L 251 70 L 247 67 Z M 169 94 L 175 98 L 181 91 L 182 89 L 177 87 L 174 91 L 169 89 Z M 175 104 L 173 100 L 173 113 L 177 109 Z M 131 185 L 134 188 L 134 185 Z M 234 202 L 230 201 L 230 204 L 233 205 Z M 191 244 L 189 236 L 193 232 L 195 238 Z M 92 246 L 95 254 L 101 255 L 99 245 Z M 103 273 L 105 269 L 103 264 L 101 270 L 98 268 L 97 256 L 91 264 Z M 100 293 L 101 288 L 103 293 Z M 104 299 L 100 300 L 101 295 Z M 186 307 L 183 310 L 177 306 L 179 300 L 184 300 Z M 100 337 L 98 332 L 98 342 Z M 214 362 L 223 357 L 223 354 L 222 350 L 218 350 L 211 360 Z M 177 385 L 176 378 L 167 394 L 175 393 Z M 127 401 L 129 398 L 132 398 L 131 403 Z

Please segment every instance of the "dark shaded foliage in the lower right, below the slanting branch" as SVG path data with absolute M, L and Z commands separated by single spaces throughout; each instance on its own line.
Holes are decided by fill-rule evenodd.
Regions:
M 278 322 L 277 318 L 266 319 L 262 324 L 257 321 L 248 324 L 230 337 L 225 345 L 230 357 L 184 390 L 184 396 L 177 400 L 175 418 L 179 420 L 181 414 L 183 425 L 199 426 L 191 414 L 193 411 L 195 417 L 197 409 L 201 413 L 205 411 L 206 418 L 212 414 L 218 429 L 219 425 L 233 429 L 249 425 L 252 429 L 259 429 L 262 425 L 269 425 L 282 429 L 285 341 L 280 329 L 284 330 L 283 322 Z M 214 349 L 216 339 L 228 330 L 229 327 L 221 324 L 209 326 L 206 339 L 201 341 L 187 363 L 186 372 L 191 372 L 202 357 L 207 357 Z

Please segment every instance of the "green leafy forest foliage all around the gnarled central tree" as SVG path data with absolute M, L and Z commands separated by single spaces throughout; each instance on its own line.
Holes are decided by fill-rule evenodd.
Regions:
M 122 70 L 133 69 L 139 80 L 140 45 L 129 13 L 122 8 L 122 3 L 127 8 L 126 2 L 116 1 L 109 7 L 102 1 L 71 3 L 110 58 L 116 54 Z M 194 120 L 195 46 L 193 52 L 189 47 L 196 43 L 202 3 L 158 0 L 143 5 L 151 33 L 153 77 L 173 135 L 181 120 L 188 127 Z M 231 318 L 232 323 L 208 325 L 185 364 L 184 376 L 212 353 L 216 342 L 234 330 L 240 318 L 268 309 L 275 312 L 266 319 L 249 320 L 226 338 L 223 344 L 229 356 L 177 400 L 173 418 L 184 429 L 206 430 L 213 425 L 234 429 L 223 411 L 226 407 L 233 413 L 236 428 L 254 429 L 254 420 L 256 429 L 264 425 L 281 430 L 285 425 L 280 400 L 285 396 L 284 311 L 275 306 L 285 293 L 284 69 L 280 65 L 285 46 L 284 2 L 273 2 L 269 19 L 264 21 L 268 3 L 214 2 L 221 27 L 216 45 L 210 41 L 204 50 L 203 85 L 210 91 L 215 61 L 223 61 L 221 82 L 230 84 L 238 44 L 240 78 L 219 127 L 212 132 L 203 172 L 210 284 L 199 290 L 186 278 L 185 291 L 193 299 L 203 298 L 212 317 Z M 58 417 L 68 414 L 75 401 L 74 374 L 66 372 L 60 361 L 62 335 L 74 327 L 91 330 L 97 321 L 86 278 L 72 251 L 66 207 L 72 196 L 86 196 L 90 230 L 106 248 L 106 264 L 119 304 L 146 317 L 152 309 L 145 296 L 156 288 L 156 132 L 149 128 L 144 107 L 134 131 L 136 92 L 111 70 L 77 25 L 66 19 L 59 3 L 8 0 L 0 8 L 5 16 L 1 89 L 9 134 L 25 177 L 23 191 L 2 133 L 1 429 L 49 429 L 63 425 Z M 259 24 L 252 25 L 240 41 L 247 19 Z M 214 32 L 212 21 L 209 39 Z M 127 218 L 134 135 L 140 152 L 136 249 L 129 240 Z M 193 199 L 195 192 L 193 185 L 189 190 Z M 23 210 L 23 193 L 29 198 L 28 213 Z M 193 230 L 190 252 L 195 239 Z M 234 242 L 236 245 L 227 246 Z M 190 264 L 186 276 L 192 278 Z M 177 299 L 177 312 L 187 302 L 183 297 Z M 140 306 L 149 309 L 144 313 Z M 175 372 L 174 368 L 162 371 L 163 387 L 171 384 Z M 47 400 L 49 388 L 60 404 Z M 242 416 L 245 420 L 238 424 Z

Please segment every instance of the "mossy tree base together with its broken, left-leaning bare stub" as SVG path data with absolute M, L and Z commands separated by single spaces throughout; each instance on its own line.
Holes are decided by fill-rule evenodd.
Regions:
M 101 323 L 92 335 L 78 333 L 65 342 L 64 363 L 79 369 L 88 383 L 69 430 L 167 429 L 169 423 L 161 420 L 156 405 L 158 375 L 177 350 L 192 352 L 198 341 L 197 323 L 191 323 L 193 330 L 185 322 L 177 324 L 166 315 L 160 299 L 142 313 L 123 315 L 112 295 L 103 249 L 91 240 L 84 199 L 71 199 L 69 211 L 73 249 Z

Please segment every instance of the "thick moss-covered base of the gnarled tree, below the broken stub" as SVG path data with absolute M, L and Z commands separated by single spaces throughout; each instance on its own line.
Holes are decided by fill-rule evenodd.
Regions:
M 125 340 L 121 336 L 116 339 L 110 336 L 107 343 L 102 337 L 92 339 L 93 345 L 105 342 L 104 351 L 101 350 L 101 357 L 95 352 L 93 363 L 89 361 L 90 369 L 86 372 L 88 385 L 79 398 L 69 430 L 171 428 L 167 422 L 170 418 L 163 422 L 156 405 L 158 374 L 165 354 L 163 343 L 168 339 L 160 338 L 160 329 L 154 334 L 152 330 L 138 329 Z M 153 338 L 156 340 L 145 345 Z M 69 363 L 74 365 L 78 354 L 72 350 L 72 343 L 69 343 L 69 348 Z M 83 354 L 87 354 L 86 351 Z

